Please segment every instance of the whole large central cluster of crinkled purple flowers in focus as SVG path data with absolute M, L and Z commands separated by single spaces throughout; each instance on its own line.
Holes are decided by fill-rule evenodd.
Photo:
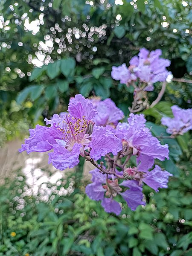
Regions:
M 76 166 L 81 155 L 96 167 L 91 171 L 92 183 L 85 189 L 87 195 L 102 201 L 106 212 L 120 214 L 120 197 L 135 210 L 145 205 L 143 183 L 155 191 L 167 187 L 172 175 L 153 166 L 155 159 L 169 158 L 169 149 L 145 127 L 143 114 L 131 113 L 128 122 L 119 122 L 123 117 L 111 99 L 85 99 L 78 94 L 70 99 L 67 113 L 45 119 L 49 127 L 30 129 L 20 152 L 52 150 L 49 163 L 60 170 Z M 129 163 L 132 156 L 136 157 L 135 166 Z M 102 157 L 105 163 L 98 164 Z

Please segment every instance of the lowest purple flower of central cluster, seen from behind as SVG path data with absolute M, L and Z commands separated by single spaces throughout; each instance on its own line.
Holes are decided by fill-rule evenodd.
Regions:
M 121 195 L 132 210 L 135 210 L 140 204 L 145 205 L 143 202 L 142 188 L 138 186 L 136 181 L 127 180 L 119 184 L 113 175 L 108 175 L 108 179 L 106 174 L 102 175 L 102 177 L 99 169 L 94 169 L 90 173 L 93 175 L 93 183 L 86 186 L 85 192 L 90 199 L 95 201 L 101 200 L 101 205 L 106 212 L 113 212 L 116 215 L 121 213 L 119 203 L 114 200 L 116 195 Z M 121 192 L 122 188 L 120 186 L 128 189 L 125 192 Z

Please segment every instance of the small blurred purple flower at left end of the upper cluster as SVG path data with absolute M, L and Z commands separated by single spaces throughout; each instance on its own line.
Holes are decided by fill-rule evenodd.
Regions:
M 112 67 L 111 77 L 115 80 L 120 80 L 121 84 L 131 83 L 132 80 L 136 80 L 134 74 L 131 74 L 126 64 L 123 63 L 119 67 Z

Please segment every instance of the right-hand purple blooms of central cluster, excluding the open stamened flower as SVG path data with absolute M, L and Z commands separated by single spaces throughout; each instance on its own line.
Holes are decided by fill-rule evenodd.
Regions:
M 165 158 L 169 159 L 168 145 L 161 145 L 145 127 L 145 122 L 143 114 L 131 113 L 128 122 L 119 122 L 114 130 L 116 137 L 122 140 L 122 150 L 118 157 L 120 159 L 126 157 L 123 164 L 116 165 L 121 172 L 114 169 L 117 156 L 113 159 L 110 155 L 106 156 L 108 166 L 112 162 L 108 172 L 103 170 L 104 174 L 102 174 L 99 169 L 90 171 L 93 182 L 87 185 L 86 193 L 93 200 L 101 200 L 106 212 L 120 214 L 121 208 L 115 200 L 117 196 L 121 196 L 132 210 L 135 210 L 138 205 L 145 205 L 142 193 L 143 183 L 156 192 L 159 188 L 167 188 L 169 176 L 172 174 L 162 171 L 157 165 L 151 171 L 149 170 L 153 167 L 155 159 L 161 161 Z M 137 165 L 131 167 L 128 165 L 128 160 L 132 155 L 136 156 Z

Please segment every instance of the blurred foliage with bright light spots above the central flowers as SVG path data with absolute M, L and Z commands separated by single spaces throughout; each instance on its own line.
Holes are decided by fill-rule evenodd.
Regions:
M 18 135 L 18 120 L 25 133 L 65 111 L 76 93 L 110 96 L 127 115 L 133 88 L 113 81 L 111 66 L 128 64 L 141 47 L 162 49 L 173 75 L 190 78 L 191 6 L 181 0 L 1 1 L 0 125 L 6 137 Z M 189 108 L 191 88 L 172 82 L 165 100 Z M 160 84 L 156 89 L 151 102 Z

